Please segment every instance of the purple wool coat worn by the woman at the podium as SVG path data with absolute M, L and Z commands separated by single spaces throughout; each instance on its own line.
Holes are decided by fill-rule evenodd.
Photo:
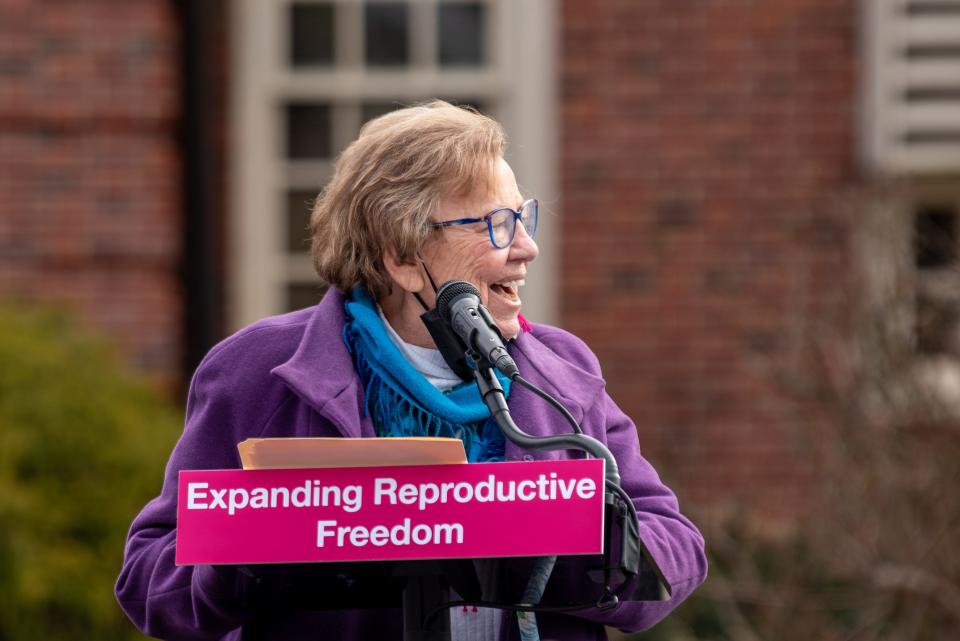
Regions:
M 197 368 L 183 435 L 173 450 L 163 490 L 134 519 L 116 594 L 146 634 L 161 639 L 399 639 L 400 610 L 269 611 L 248 607 L 243 576 L 210 566 L 174 564 L 177 472 L 240 467 L 236 445 L 251 437 L 374 436 L 364 415 L 363 385 L 343 340 L 343 294 L 331 290 L 316 307 L 259 321 L 210 350 Z M 584 433 L 603 441 L 620 465 L 633 498 L 640 536 L 673 588 L 665 602 L 624 601 L 600 612 L 537 616 L 544 639 L 603 639 L 603 625 L 627 631 L 652 626 L 705 578 L 703 537 L 673 493 L 640 455 L 633 422 L 607 395 L 596 356 L 563 330 L 534 325 L 510 353 L 524 377 L 557 398 Z M 569 426 L 546 403 L 514 386 L 514 420 L 532 434 Z M 509 441 L 506 460 L 561 458 L 527 452 Z M 518 637 L 505 616 L 501 637 Z

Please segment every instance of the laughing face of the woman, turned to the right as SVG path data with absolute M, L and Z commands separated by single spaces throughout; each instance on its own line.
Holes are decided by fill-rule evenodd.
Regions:
M 496 165 L 492 189 L 488 194 L 444 199 L 434 221 L 480 218 L 494 209 L 520 209 L 523 197 L 513 170 L 502 158 Z M 517 222 L 513 243 L 497 249 L 490 243 L 486 224 L 472 223 L 437 230 L 423 250 L 423 262 L 439 287 L 448 280 L 465 280 L 480 290 L 483 304 L 490 310 L 506 338 L 520 333 L 520 286 L 527 275 L 527 264 L 539 249 Z

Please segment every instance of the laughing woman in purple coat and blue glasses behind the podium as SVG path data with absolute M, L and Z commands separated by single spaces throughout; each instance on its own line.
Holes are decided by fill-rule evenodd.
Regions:
M 311 609 L 302 598 L 265 595 L 262 578 L 243 569 L 174 564 L 177 472 L 237 468 L 236 444 L 246 438 L 429 434 L 462 438 L 470 461 L 569 454 L 505 442 L 475 385 L 436 349 L 421 315 L 434 305 L 434 284 L 450 279 L 476 285 L 524 377 L 561 398 L 584 433 L 612 450 L 640 535 L 672 587 L 665 602 L 542 614 L 543 637 L 599 639 L 603 625 L 649 627 L 703 580 L 703 539 L 641 457 L 636 428 L 604 391 L 597 358 L 571 334 L 520 315 L 519 290 L 538 253 L 538 205 L 521 194 L 503 151 L 496 122 L 437 101 L 368 123 L 343 152 L 311 221 L 314 263 L 329 291 L 316 307 L 226 339 L 193 377 L 163 491 L 134 520 L 117 582 L 117 598 L 141 630 L 168 639 L 401 638 L 399 609 Z M 507 394 L 530 432 L 569 431 L 526 389 Z M 518 638 L 516 619 L 499 611 L 453 618 L 460 640 Z

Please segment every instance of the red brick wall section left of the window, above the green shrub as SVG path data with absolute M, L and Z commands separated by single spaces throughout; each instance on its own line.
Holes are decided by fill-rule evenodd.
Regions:
M 138 367 L 181 354 L 172 3 L 0 1 L 0 298 L 66 304 Z

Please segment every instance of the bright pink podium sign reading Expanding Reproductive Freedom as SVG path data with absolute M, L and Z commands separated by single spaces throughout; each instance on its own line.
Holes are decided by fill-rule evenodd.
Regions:
M 599 554 L 603 466 L 185 470 L 177 564 Z

